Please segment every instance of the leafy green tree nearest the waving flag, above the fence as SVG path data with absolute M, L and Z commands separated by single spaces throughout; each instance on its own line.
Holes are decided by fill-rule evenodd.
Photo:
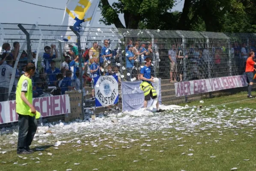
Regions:
M 161 23 L 166 23 L 172 15 L 175 0 L 118 0 L 112 6 L 108 0 L 101 0 L 100 8 L 106 25 L 115 24 L 118 28 L 137 29 L 140 26 L 148 29 L 160 29 Z M 125 26 L 119 20 L 119 14 L 124 14 Z

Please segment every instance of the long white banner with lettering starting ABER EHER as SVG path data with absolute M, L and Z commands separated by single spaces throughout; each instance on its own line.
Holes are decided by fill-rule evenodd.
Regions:
M 247 86 L 245 75 L 175 83 L 176 97 Z

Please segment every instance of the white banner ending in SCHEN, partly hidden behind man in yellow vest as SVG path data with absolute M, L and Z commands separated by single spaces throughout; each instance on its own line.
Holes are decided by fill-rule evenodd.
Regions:
M 70 113 L 68 94 L 51 97 L 33 98 L 33 106 L 41 117 Z M 16 101 L 0 102 L 0 124 L 18 121 Z

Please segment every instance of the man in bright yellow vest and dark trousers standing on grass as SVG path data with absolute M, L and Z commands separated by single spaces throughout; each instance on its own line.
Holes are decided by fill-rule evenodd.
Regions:
M 37 129 L 37 122 L 35 116 L 36 109 L 33 106 L 33 85 L 31 77 L 35 74 L 36 67 L 29 63 L 25 67 L 25 74 L 21 76 L 18 81 L 16 90 L 16 112 L 18 113 L 18 146 L 17 154 L 31 154 L 30 145 L 33 141 Z

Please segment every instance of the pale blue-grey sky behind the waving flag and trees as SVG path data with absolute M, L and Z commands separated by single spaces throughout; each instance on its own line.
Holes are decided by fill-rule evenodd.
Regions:
M 18 0 L 1 0 L 0 6 L 0 23 L 18 23 L 18 24 L 51 24 L 60 25 L 63 20 L 64 11 L 57 9 L 49 9 L 41 6 L 35 6 L 28 3 L 24 3 Z M 67 0 L 24 0 L 30 3 L 39 4 L 42 6 L 49 6 L 54 8 L 65 9 Z M 110 5 L 116 0 L 109 0 Z M 184 6 L 184 0 L 179 0 L 179 3 L 172 9 L 172 11 L 182 11 Z M 6 14 L 6 15 L 3 15 Z M 99 19 L 102 18 L 100 9 L 97 10 L 95 20 L 91 27 L 115 27 L 114 25 L 105 26 L 103 23 L 99 23 Z M 123 15 L 119 15 L 119 18 L 124 24 Z M 124 24 L 125 25 L 125 24 Z

